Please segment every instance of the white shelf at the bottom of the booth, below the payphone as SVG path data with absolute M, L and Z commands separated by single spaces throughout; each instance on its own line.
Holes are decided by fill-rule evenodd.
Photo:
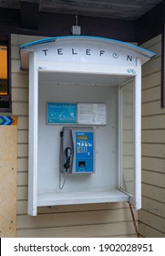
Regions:
M 118 189 L 87 190 L 87 191 L 60 191 L 37 194 L 37 206 L 74 205 L 89 203 L 109 203 L 129 201 L 129 196 Z

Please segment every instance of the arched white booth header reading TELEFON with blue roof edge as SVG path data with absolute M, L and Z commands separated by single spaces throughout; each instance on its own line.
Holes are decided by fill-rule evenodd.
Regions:
M 85 63 L 136 67 L 137 59 L 145 62 L 149 56 L 153 57 L 152 52 L 136 45 L 108 38 L 85 36 L 51 37 L 21 46 L 21 54 L 27 58 L 26 53 L 30 51 L 36 51 L 37 61 L 42 63 Z M 27 63 L 28 61 L 26 65 Z M 22 66 L 24 68 L 23 62 Z M 42 65 L 40 65 L 41 68 L 43 69 Z

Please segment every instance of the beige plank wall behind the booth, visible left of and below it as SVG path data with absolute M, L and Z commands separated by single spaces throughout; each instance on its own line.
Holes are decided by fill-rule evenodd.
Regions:
M 12 36 L 12 105 L 18 116 L 17 237 L 136 237 L 128 203 L 39 208 L 36 217 L 27 216 L 28 73 L 20 69 L 19 45 L 38 38 Z

